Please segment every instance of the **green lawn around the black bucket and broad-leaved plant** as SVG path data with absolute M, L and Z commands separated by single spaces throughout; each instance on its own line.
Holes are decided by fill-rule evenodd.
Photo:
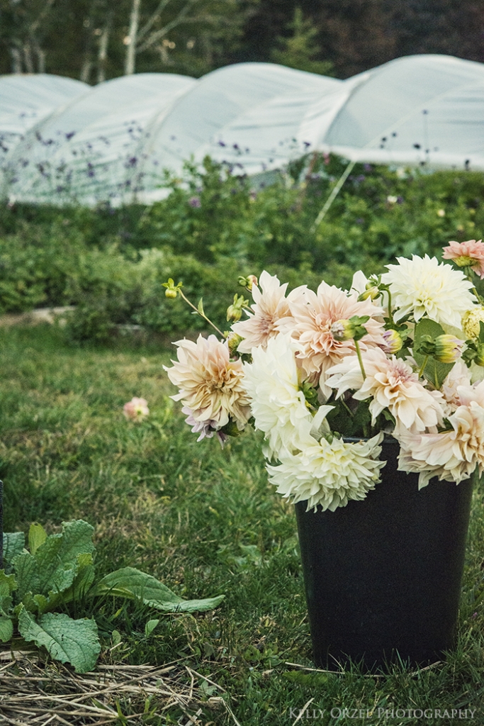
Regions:
M 450 725 L 459 722 L 451 709 L 467 709 L 460 722 L 484 724 L 482 490 L 473 502 L 459 646 L 446 663 L 417 672 L 395 666 L 379 677 L 356 667 L 345 674 L 295 669 L 288 664 L 312 664 L 293 508 L 268 485 L 254 433 L 223 450 L 213 439 L 197 444 L 168 398 L 169 359 L 161 343 L 126 338 L 74 348 L 55 328 L 0 329 L 6 531 L 39 521 L 53 532 L 83 518 L 96 528 L 101 574 L 134 566 L 182 597 L 226 596 L 216 611 L 197 616 L 160 616 L 107 598 L 86 613 L 99 625 L 102 662 L 186 663 L 229 693 L 241 726 L 292 726 L 310 699 L 311 722 L 321 726 Z M 141 423 L 123 417 L 133 396 L 149 404 Z M 153 617 L 160 624 L 146 636 Z M 209 698 L 212 687 L 205 690 Z M 121 706 L 128 716 L 130 704 Z M 396 709 L 441 714 L 416 720 Z M 173 707 L 142 722 L 171 724 L 181 715 Z M 234 723 L 209 703 L 198 718 Z

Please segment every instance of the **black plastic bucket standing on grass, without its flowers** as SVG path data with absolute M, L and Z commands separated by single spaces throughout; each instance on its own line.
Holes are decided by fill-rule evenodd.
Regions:
M 398 452 L 383 442 L 382 481 L 366 499 L 335 512 L 295 505 L 319 666 L 425 665 L 454 647 L 472 478 L 419 491 Z

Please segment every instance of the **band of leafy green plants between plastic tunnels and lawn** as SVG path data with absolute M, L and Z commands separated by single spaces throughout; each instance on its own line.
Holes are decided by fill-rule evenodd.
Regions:
M 315 225 L 344 169 L 340 158 L 307 155 L 254 188 L 207 158 L 202 169 L 187 163 L 183 179 L 167 175 L 171 193 L 147 208 L 4 208 L 0 312 L 74 305 L 77 340 L 106 338 L 114 325 L 200 327 L 165 301 L 173 277 L 223 327 L 239 274 L 348 287 L 356 269 L 381 272 L 395 256 L 482 236 L 484 175 L 468 171 L 356 166 Z

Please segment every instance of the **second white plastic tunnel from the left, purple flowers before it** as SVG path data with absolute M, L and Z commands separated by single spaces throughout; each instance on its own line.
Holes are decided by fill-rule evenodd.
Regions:
M 141 181 L 145 126 L 194 83 L 171 73 L 100 83 L 30 129 L 4 169 L 4 194 L 44 203 L 131 200 Z

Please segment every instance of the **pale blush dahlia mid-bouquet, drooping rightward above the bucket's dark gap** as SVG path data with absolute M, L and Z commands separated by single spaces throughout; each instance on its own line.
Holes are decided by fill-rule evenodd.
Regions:
M 337 388 L 337 396 L 345 391 L 356 391 L 353 399 L 372 398 L 369 411 L 374 424 L 383 409 L 395 418 L 395 431 L 403 427 L 409 431 L 424 431 L 443 420 L 443 396 L 440 391 L 427 391 L 417 373 L 408 362 L 392 356 L 387 358 L 380 348 L 362 355 L 366 378 L 363 380 L 356 356 L 329 369 L 327 385 Z

